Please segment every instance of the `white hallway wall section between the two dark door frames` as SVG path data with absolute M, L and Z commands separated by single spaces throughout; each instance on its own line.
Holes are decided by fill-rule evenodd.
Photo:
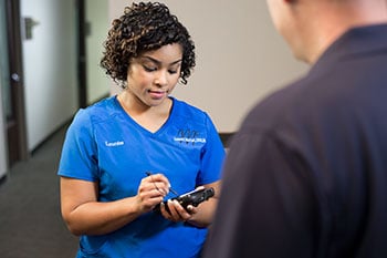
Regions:
M 23 40 L 28 148 L 32 151 L 77 109 L 74 0 L 21 0 L 39 22 Z

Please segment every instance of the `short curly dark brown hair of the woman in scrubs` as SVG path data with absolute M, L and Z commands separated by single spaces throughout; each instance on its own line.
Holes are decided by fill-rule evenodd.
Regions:
M 101 66 L 123 89 L 126 87 L 127 71 L 133 58 L 145 51 L 179 43 L 182 47 L 180 82 L 187 84 L 195 62 L 195 44 L 188 30 L 160 2 L 133 3 L 124 14 L 112 22 Z

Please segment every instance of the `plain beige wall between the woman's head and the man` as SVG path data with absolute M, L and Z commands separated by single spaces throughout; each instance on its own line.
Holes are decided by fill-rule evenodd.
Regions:
M 174 95 L 207 111 L 221 133 L 236 132 L 247 112 L 270 92 L 304 73 L 276 33 L 265 1 L 164 0 L 189 30 L 197 68 Z M 127 0 L 109 0 L 109 18 Z M 112 94 L 118 91 L 112 86 Z

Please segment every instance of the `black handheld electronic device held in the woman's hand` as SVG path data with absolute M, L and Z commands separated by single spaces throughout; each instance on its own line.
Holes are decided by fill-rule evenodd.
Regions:
M 186 194 L 179 195 L 177 197 L 171 198 L 171 200 L 176 199 L 179 202 L 179 204 L 187 209 L 188 205 L 192 205 L 197 207 L 199 204 L 201 204 L 205 200 L 208 200 L 215 195 L 215 190 L 212 187 L 205 188 L 205 187 L 198 187 L 195 190 L 188 192 Z M 164 202 L 166 210 L 169 213 L 169 208 L 167 205 L 167 200 Z M 160 205 L 157 205 L 155 207 L 155 210 L 160 210 Z

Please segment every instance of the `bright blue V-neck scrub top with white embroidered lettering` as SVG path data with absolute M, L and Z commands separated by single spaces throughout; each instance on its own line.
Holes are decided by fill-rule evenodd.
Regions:
M 146 172 L 163 173 L 178 193 L 220 179 L 224 149 L 207 113 L 174 101 L 155 133 L 137 124 L 116 96 L 80 110 L 69 127 L 59 175 L 98 182 L 100 202 L 135 196 Z M 167 196 L 170 198 L 172 196 Z M 104 236 L 82 236 L 77 257 L 197 257 L 206 228 L 148 213 Z

